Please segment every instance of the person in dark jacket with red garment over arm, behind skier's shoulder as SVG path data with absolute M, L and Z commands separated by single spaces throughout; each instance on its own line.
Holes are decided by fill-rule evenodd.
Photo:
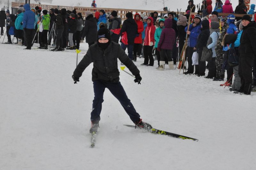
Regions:
M 109 25 L 109 30 L 110 30 L 111 40 L 115 43 L 118 43 L 120 35 L 113 33 L 111 29 L 115 30 L 115 29 L 121 28 L 122 19 L 117 17 L 116 11 L 111 12 L 110 19 L 111 19 L 111 22 Z

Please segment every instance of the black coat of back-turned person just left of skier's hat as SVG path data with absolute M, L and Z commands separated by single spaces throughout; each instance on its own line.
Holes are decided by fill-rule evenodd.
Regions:
M 95 18 L 93 18 L 93 15 L 88 15 L 85 18 L 84 22 L 84 33 L 83 33 L 83 38 L 85 37 L 86 43 L 94 43 L 97 41 L 97 22 Z

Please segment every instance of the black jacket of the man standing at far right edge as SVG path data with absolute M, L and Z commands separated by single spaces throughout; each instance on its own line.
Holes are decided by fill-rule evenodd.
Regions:
M 253 21 L 243 28 L 243 33 L 240 38 L 240 58 L 241 57 L 256 57 L 256 23 Z

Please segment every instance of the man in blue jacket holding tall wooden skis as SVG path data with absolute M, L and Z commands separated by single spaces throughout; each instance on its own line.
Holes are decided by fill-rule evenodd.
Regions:
M 194 22 L 185 28 L 185 32 L 189 35 L 189 44 L 186 51 L 186 56 L 188 57 L 188 71 L 184 74 L 193 74 L 194 66 L 192 66 L 192 55 L 196 51 L 194 48 L 196 47 L 197 37 L 200 33 L 201 29 L 201 16 L 196 15 L 194 18 Z M 198 73 L 195 73 L 198 74 Z

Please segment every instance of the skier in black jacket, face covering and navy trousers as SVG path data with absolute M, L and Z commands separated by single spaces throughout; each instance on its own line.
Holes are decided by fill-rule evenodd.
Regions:
M 91 112 L 91 129 L 90 133 L 97 132 L 100 121 L 100 112 L 105 88 L 117 98 L 123 106 L 125 112 L 130 116 L 135 126 L 144 129 L 151 129 L 152 126 L 140 119 L 139 113 L 136 112 L 130 99 L 127 97 L 123 86 L 119 81 L 119 71 L 117 58 L 128 67 L 135 75 L 134 82 L 140 84 L 141 76 L 139 69 L 134 65 L 132 60 L 125 54 L 124 50 L 118 43 L 111 41 L 111 35 L 108 28 L 102 27 L 97 33 L 97 43 L 91 45 L 84 58 L 77 65 L 72 78 L 79 81 L 85 68 L 93 63 L 92 81 L 94 89 L 94 100 L 92 102 Z

